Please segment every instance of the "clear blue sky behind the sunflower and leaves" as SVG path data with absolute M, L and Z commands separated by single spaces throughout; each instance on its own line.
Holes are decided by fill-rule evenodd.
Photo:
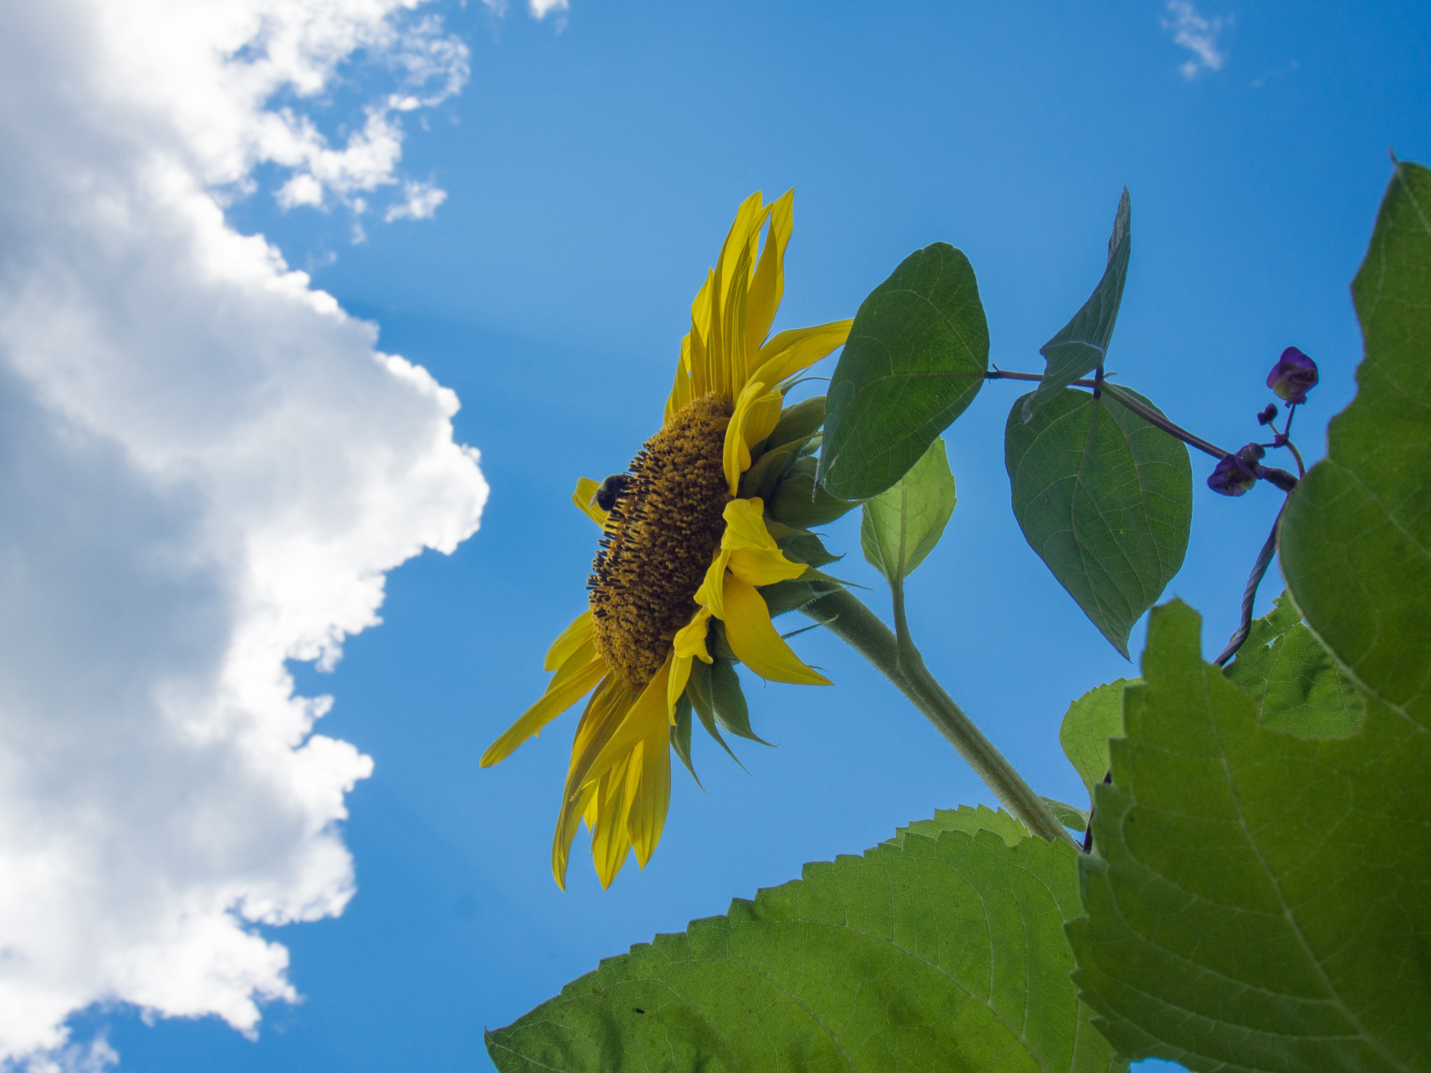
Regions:
M 748 193 L 796 190 L 777 329 L 853 316 L 900 259 L 942 240 L 977 272 L 992 361 L 1039 371 L 1039 346 L 1102 272 L 1126 185 L 1132 266 L 1109 368 L 1236 446 L 1256 435 L 1266 369 L 1296 345 L 1322 375 L 1298 418 L 1311 461 L 1354 392 L 1348 283 L 1388 147 L 1431 159 L 1431 20 L 1414 3 L 1199 0 L 1183 16 L 1206 23 L 1192 27 L 1201 54 L 1175 40 L 1178 6 L 1148 1 L 428 10 L 471 53 L 465 87 L 405 127 L 399 172 L 446 192 L 435 215 L 283 209 L 273 192 L 288 172 L 269 163 L 226 220 L 373 322 L 381 351 L 456 392 L 454 436 L 481 451 L 491 494 L 455 552 L 388 575 L 382 625 L 351 637 L 335 670 L 289 664 L 299 694 L 333 697 L 319 733 L 373 760 L 342 824 L 356 896 L 336 917 L 258 926 L 288 949 L 302 1001 L 265 1004 L 256 1039 L 213 1016 L 146 1023 L 123 1003 L 74 1014 L 73 1039 L 102 1034 L 123 1070 L 484 1069 L 484 1026 L 598 959 L 934 808 L 992 803 L 820 631 L 797 648 L 834 685 L 747 685 L 757 731 L 778 747 L 740 743 L 747 773 L 698 740 L 705 791 L 675 771 L 658 853 L 608 891 L 584 836 L 565 893 L 548 870 L 572 715 L 477 765 L 542 690 L 542 652 L 584 605 L 594 541 L 571 486 L 622 469 L 657 426 L 690 300 Z M 341 76 L 301 102 L 333 140 L 376 79 L 356 62 Z M 959 506 L 912 579 L 912 625 L 1026 778 L 1078 803 L 1059 720 L 1136 668 L 1017 529 L 1002 455 L 1017 395 L 987 383 L 946 433 Z M 1211 459 L 1193 469 L 1192 541 L 1168 595 L 1203 614 L 1215 654 L 1278 504 L 1268 486 L 1212 495 Z M 850 552 L 839 572 L 870 585 L 883 614 L 857 518 L 827 544 Z M 1259 609 L 1278 581 L 1274 569 Z

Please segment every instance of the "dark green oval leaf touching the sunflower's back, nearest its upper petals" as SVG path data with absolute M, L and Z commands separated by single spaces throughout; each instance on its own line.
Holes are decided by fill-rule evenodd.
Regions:
M 893 485 L 973 402 L 989 326 L 973 266 L 936 242 L 860 305 L 830 379 L 819 479 L 840 499 Z

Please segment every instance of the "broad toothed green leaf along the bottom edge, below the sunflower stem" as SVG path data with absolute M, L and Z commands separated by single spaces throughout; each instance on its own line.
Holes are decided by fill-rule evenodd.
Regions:
M 809 864 L 607 959 L 488 1053 L 504 1073 L 1123 1070 L 1069 979 L 1078 853 L 1020 836 L 960 808 Z

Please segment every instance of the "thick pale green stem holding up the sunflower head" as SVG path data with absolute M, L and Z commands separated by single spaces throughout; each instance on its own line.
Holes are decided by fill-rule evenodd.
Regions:
M 1049 841 L 1063 840 L 1078 846 L 1063 828 L 1043 798 L 1023 781 L 1005 755 L 993 747 L 983 731 L 964 715 L 953 698 L 924 667 L 914 642 L 909 638 L 904 622 L 903 587 L 896 587 L 896 619 L 902 624 L 896 637 L 880 618 L 864 607 L 847 589 L 827 592 L 801 611 L 821 622 L 830 632 L 863 655 L 870 664 L 903 692 L 919 708 L 924 718 L 934 724 L 940 734 L 954 747 L 983 780 L 999 803 L 1023 821 L 1035 834 Z

